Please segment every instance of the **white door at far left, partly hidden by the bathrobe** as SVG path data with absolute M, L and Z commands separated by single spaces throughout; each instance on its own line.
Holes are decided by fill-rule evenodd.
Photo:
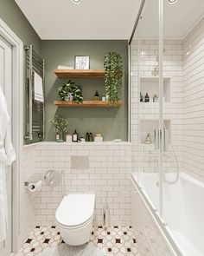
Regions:
M 10 121 L 12 121 L 12 47 L 10 43 L 3 39 L 2 36 L 0 36 L 0 86 L 2 86 L 3 88 L 3 92 L 6 97 L 6 102 L 10 112 Z M 6 169 L 6 186 L 9 210 L 9 232 L 7 235 L 7 239 L 3 243 L 0 243 L 0 256 L 7 256 L 11 253 L 11 182 L 11 167 L 8 167 Z

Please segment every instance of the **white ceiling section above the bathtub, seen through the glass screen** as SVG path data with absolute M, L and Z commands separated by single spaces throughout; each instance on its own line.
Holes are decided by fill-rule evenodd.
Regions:
M 158 36 L 158 0 L 146 1 L 140 22 L 142 37 Z M 168 38 L 183 38 L 204 16 L 204 0 L 163 0 L 163 30 Z

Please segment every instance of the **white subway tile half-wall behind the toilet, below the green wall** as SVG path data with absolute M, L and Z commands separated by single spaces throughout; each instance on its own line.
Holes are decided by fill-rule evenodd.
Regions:
M 35 174 L 43 179 L 49 169 L 60 172 L 64 182 L 56 187 L 43 182 L 41 192 L 35 193 L 36 225 L 54 225 L 55 211 L 68 193 L 96 194 L 96 225 L 103 224 L 106 202 L 111 225 L 131 225 L 131 143 L 36 143 Z

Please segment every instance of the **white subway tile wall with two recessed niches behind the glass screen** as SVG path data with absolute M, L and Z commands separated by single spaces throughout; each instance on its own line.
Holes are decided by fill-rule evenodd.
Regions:
M 154 129 L 159 125 L 159 103 L 152 102 L 153 95 L 158 96 L 158 82 L 154 69 L 158 65 L 158 41 L 141 40 L 140 56 L 140 91 L 150 95 L 150 102 L 141 102 L 138 108 L 138 51 L 137 40 L 131 46 L 131 141 L 133 171 L 138 167 L 138 141 L 142 144 L 150 132 L 154 142 Z M 169 136 L 175 149 L 179 167 L 182 169 L 182 40 L 164 41 L 164 102 L 163 119 L 169 129 Z M 140 135 L 138 139 L 138 115 L 140 117 Z M 175 154 L 169 144 L 169 156 L 164 157 L 164 171 L 175 172 Z M 143 151 L 140 147 L 140 170 L 142 172 L 158 172 L 158 152 Z

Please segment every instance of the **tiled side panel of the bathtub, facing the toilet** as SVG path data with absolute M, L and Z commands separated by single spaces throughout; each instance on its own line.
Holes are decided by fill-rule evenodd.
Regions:
M 154 223 L 149 209 L 143 203 L 143 199 L 134 185 L 131 187 L 131 199 L 132 228 L 137 237 L 138 255 L 175 255 L 170 252 L 169 246 L 163 238 L 163 234 Z

